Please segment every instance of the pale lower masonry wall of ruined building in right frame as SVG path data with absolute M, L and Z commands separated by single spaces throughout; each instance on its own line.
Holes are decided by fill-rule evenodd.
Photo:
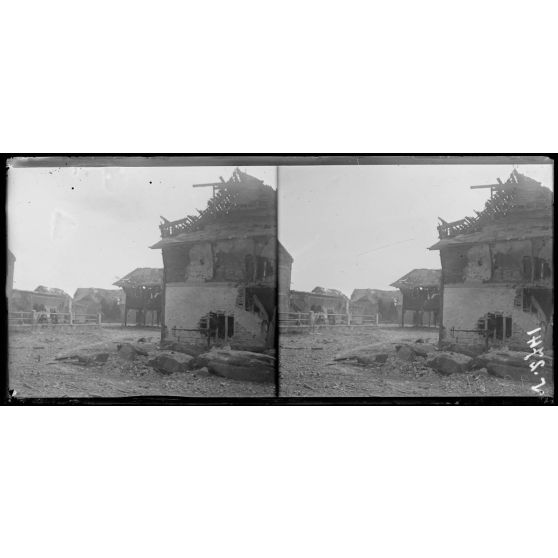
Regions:
M 525 345 L 527 331 L 539 327 L 536 314 L 524 312 L 514 304 L 516 289 L 509 286 L 483 285 L 471 287 L 452 287 L 446 285 L 443 293 L 443 326 L 445 341 L 459 344 L 484 344 L 484 337 L 476 333 L 456 331 L 457 329 L 477 329 L 479 319 L 487 313 L 502 313 L 512 318 L 511 338 L 504 344 Z

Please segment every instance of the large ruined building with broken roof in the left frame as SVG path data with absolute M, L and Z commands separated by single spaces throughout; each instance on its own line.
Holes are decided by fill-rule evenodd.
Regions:
M 163 218 L 164 339 L 264 350 L 275 346 L 276 191 L 235 169 L 197 215 Z

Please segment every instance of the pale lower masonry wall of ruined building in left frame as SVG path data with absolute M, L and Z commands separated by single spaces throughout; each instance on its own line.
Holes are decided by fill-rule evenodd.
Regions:
M 233 348 L 265 348 L 266 324 L 254 313 L 237 305 L 239 288 L 234 285 L 204 283 L 167 284 L 165 295 L 165 325 L 167 337 L 172 328 L 197 329 L 200 319 L 209 312 L 234 314 Z M 207 339 L 196 332 L 176 332 L 181 340 L 204 345 Z

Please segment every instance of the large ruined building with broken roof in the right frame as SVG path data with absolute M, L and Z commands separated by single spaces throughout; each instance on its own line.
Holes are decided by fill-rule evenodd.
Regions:
M 440 341 L 528 350 L 527 333 L 542 328 L 552 349 L 552 192 L 514 170 L 489 188 L 475 217 L 440 219 Z

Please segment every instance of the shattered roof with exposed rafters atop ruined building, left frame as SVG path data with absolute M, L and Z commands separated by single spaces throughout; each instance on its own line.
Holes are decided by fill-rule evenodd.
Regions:
M 220 182 L 198 184 L 194 186 L 210 186 L 213 198 L 207 207 L 198 210 L 198 215 L 188 215 L 178 221 L 169 221 L 161 217 L 159 225 L 163 239 L 181 235 L 183 239 L 190 233 L 202 231 L 212 223 L 223 223 L 234 220 L 234 217 L 267 216 L 274 218 L 277 208 L 276 192 L 263 180 L 251 176 L 236 168 L 229 180 L 220 177 Z

